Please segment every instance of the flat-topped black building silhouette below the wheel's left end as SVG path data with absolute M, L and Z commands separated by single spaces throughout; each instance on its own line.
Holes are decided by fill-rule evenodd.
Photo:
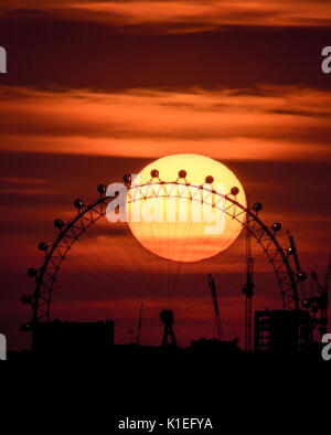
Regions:
M 50 358 L 93 359 L 110 352 L 114 322 L 38 322 L 32 327 L 32 349 L 36 356 Z

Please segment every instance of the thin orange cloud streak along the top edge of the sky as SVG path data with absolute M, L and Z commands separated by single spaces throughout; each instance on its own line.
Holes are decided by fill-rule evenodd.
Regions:
M 205 31 L 224 25 L 330 25 L 325 1 L 1 1 L 7 10 L 45 11 L 72 20 L 95 20 L 111 25 L 167 24 L 169 32 Z M 173 29 L 175 26 L 175 30 Z M 163 28 L 164 30 L 164 28 Z

